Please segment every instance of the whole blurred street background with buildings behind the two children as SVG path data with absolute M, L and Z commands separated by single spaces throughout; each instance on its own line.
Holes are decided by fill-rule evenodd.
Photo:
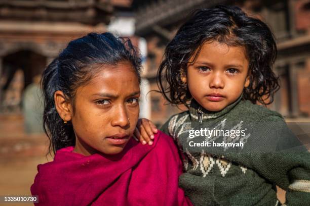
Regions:
M 309 0 L 0 0 L 0 195 L 29 195 L 38 164 L 51 161 L 42 129 L 40 75 L 67 42 L 89 32 L 129 37 L 143 58 L 141 114 L 158 126 L 180 109 L 166 105 L 156 73 L 165 46 L 196 8 L 237 5 L 276 35 L 281 80 L 268 106 L 288 123 L 310 123 Z M 299 130 L 298 130 L 299 129 Z M 309 131 L 297 128 L 310 143 Z M 280 195 L 283 199 L 283 193 Z M 0 203 L 1 205 L 1 203 Z M 25 205 L 25 204 L 24 204 Z

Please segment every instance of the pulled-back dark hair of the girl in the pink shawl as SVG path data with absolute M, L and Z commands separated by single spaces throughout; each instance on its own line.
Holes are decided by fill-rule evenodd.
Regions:
M 42 87 L 45 97 L 43 126 L 50 139 L 49 151 L 75 145 L 72 124 L 63 123 L 54 102 L 54 93 L 61 90 L 73 105 L 78 87 L 85 85 L 98 73 L 102 65 L 118 63 L 133 66 L 140 82 L 141 59 L 129 39 L 111 33 L 90 33 L 72 40 L 43 72 Z

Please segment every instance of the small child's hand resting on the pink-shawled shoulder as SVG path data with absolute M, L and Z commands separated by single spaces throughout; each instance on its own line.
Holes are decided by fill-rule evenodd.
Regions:
M 154 139 L 154 133 L 157 133 L 156 126 L 148 119 L 142 118 L 138 120 L 137 127 L 134 132 L 134 137 L 137 141 L 140 141 L 143 145 L 148 143 L 152 145 Z

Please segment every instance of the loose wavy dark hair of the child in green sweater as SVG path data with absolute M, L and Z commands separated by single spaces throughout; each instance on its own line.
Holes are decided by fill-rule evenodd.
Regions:
M 167 45 L 157 74 L 157 83 L 165 98 L 172 105 L 183 104 L 188 107 L 192 96 L 187 84 L 181 81 L 181 76 L 186 74 L 190 58 L 193 55 L 197 57 L 202 44 L 213 40 L 229 46 L 245 47 L 250 85 L 244 89 L 243 98 L 253 104 L 272 103 L 274 93 L 280 87 L 278 77 L 272 70 L 277 56 L 274 35 L 259 19 L 247 16 L 238 7 L 230 6 L 196 10 Z M 266 99 L 269 101 L 265 102 Z

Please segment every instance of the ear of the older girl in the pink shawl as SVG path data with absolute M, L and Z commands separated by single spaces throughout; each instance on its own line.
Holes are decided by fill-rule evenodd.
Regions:
M 54 93 L 54 101 L 60 118 L 64 122 L 70 121 L 72 117 L 72 107 L 65 94 L 62 91 L 57 90 Z

